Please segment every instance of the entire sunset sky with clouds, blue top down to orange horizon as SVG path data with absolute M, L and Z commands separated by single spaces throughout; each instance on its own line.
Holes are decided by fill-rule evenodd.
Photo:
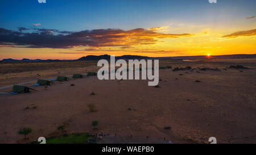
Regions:
M 0 1 L 0 59 L 256 53 L 256 1 Z

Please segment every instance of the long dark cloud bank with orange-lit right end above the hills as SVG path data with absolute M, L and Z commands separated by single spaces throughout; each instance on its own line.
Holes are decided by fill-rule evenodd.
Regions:
M 73 48 L 73 47 L 130 47 L 131 45 L 155 44 L 161 38 L 193 36 L 190 33 L 158 33 L 144 28 L 124 31 L 119 29 L 85 30 L 79 32 L 58 31 L 47 28 L 32 28 L 31 32 L 0 28 L 0 44 L 26 45 L 28 48 Z M 27 29 L 26 29 L 27 30 Z

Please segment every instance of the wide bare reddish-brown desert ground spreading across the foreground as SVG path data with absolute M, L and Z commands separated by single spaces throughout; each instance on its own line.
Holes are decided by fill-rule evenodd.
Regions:
M 36 87 L 38 91 L 29 94 L 0 94 L 0 143 L 24 143 L 23 136 L 16 133 L 22 127 L 32 128 L 29 140 L 47 137 L 61 124 L 66 124 L 67 132 L 92 132 L 93 120 L 99 121 L 98 132 L 117 133 L 122 137 L 120 143 L 126 140 L 129 143 L 131 134 L 145 139 L 146 136 L 166 137 L 174 143 L 208 143 L 209 137 L 216 137 L 217 143 L 256 143 L 256 61 L 239 63 L 253 68 L 250 70 L 223 70 L 236 64 L 236 61 L 211 60 L 160 61 L 160 66 L 196 69 L 178 72 L 160 69 L 158 88 L 147 86 L 146 80 L 100 81 L 97 77 L 86 77 L 55 82 L 47 88 Z M 68 74 L 72 70 L 84 73 L 88 66 L 57 68 L 55 71 L 61 73 L 51 71 L 44 77 Z M 217 67 L 221 72 L 198 73 L 197 67 Z M 9 74 L 23 76 L 11 78 L 15 82 L 38 78 L 29 75 L 26 78 L 23 74 L 28 72 L 42 74 L 47 69 L 5 73 L 5 77 L 1 76 L 1 86 L 14 84 Z M 11 88 L 1 91 L 8 92 Z M 96 95 L 90 95 L 92 92 Z M 97 111 L 90 112 L 88 104 L 94 104 Z M 29 108 L 25 110 L 26 107 Z M 167 125 L 170 130 L 164 129 Z

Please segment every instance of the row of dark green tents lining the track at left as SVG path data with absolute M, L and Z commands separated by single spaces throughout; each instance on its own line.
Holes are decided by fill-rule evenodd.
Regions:
M 88 72 L 84 76 L 97 76 L 97 73 Z M 84 76 L 82 76 L 82 74 L 73 74 L 73 78 L 83 78 Z M 56 81 L 63 82 L 63 81 L 68 81 L 68 79 L 69 78 L 67 78 L 65 76 L 59 76 L 59 77 L 57 77 Z M 52 79 L 52 81 L 55 81 L 55 80 Z M 53 83 L 52 81 L 48 81 L 46 79 L 38 79 L 35 86 L 49 86 L 49 85 L 51 85 L 51 83 Z M 32 89 L 27 86 L 14 85 L 13 92 L 11 92 L 11 94 L 29 93 L 30 90 L 35 90 L 35 89 Z

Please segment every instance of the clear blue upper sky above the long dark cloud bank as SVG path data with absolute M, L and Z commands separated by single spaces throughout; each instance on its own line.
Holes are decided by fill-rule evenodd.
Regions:
M 15 30 L 34 23 L 43 28 L 81 31 L 98 28 L 157 27 L 167 22 L 191 24 L 231 22 L 255 15 L 256 1 L 208 0 L 197 1 L 68 1 L 37 0 L 0 1 L 1 27 Z M 217 21 L 212 20 L 218 17 Z M 212 18 L 212 19 L 211 19 Z

